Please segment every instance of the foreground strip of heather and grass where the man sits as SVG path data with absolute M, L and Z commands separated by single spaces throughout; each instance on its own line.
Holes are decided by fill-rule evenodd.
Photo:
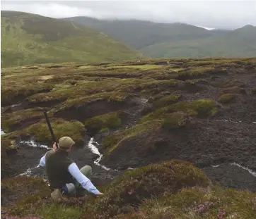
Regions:
M 50 201 L 43 180 L 1 180 L 8 191 L 8 215 L 43 218 L 245 218 L 255 215 L 255 193 L 212 185 L 204 173 L 185 161 L 166 161 L 129 170 L 101 190 L 104 196 L 64 204 Z M 6 202 L 6 194 L 1 196 Z

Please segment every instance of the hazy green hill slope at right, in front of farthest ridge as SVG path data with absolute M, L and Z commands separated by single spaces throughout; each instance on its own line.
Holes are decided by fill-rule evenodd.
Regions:
M 204 39 L 163 42 L 141 49 L 144 54 L 160 57 L 244 57 L 256 56 L 256 27 L 243 27 L 225 35 Z

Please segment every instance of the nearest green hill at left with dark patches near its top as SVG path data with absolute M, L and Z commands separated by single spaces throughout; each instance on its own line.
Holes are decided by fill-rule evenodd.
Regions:
M 1 66 L 122 61 L 142 55 L 89 27 L 30 13 L 1 11 Z

